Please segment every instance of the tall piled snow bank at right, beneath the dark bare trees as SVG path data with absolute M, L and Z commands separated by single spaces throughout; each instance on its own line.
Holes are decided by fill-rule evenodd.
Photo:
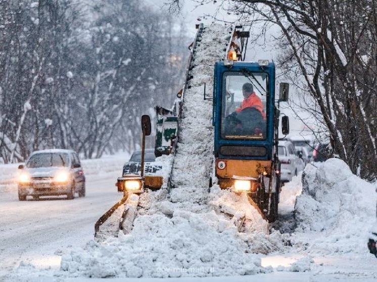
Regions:
M 376 214 L 374 185 L 353 175 L 337 158 L 318 167 L 308 165 L 302 183 L 295 205 L 296 231 L 321 232 L 310 242 L 316 250 L 365 253 Z

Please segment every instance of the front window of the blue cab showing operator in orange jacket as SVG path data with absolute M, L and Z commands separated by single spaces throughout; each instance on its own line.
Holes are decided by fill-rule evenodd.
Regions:
M 223 76 L 221 138 L 266 138 L 268 75 L 226 72 Z

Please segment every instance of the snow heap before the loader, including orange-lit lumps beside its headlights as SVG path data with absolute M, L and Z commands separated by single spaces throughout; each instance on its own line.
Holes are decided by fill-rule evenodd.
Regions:
M 164 199 L 164 193 L 142 194 L 143 207 L 131 233 L 119 232 L 102 243 L 90 241 L 84 249 L 63 256 L 61 269 L 89 277 L 245 275 L 270 271 L 261 267 L 256 253 L 284 248 L 278 232 L 251 232 L 266 228 L 266 222 L 250 204 L 243 205 L 242 196 L 214 187 L 208 196 L 212 208 L 193 212 Z M 240 205 L 237 211 L 232 204 Z M 254 220 L 242 233 L 228 216 L 240 212 Z

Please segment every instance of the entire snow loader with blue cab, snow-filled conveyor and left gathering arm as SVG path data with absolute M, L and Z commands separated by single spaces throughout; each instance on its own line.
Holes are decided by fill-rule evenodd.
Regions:
M 197 25 L 182 89 L 171 109 L 156 107 L 155 155 L 169 155 L 162 158 L 166 166 L 160 171 L 163 176 L 145 176 L 143 159 L 140 173 L 123 173 L 117 181 L 123 198 L 97 221 L 96 234 L 102 224 L 110 226 L 111 222 L 116 225 L 114 232 L 103 227 L 105 237 L 119 229 L 131 230 L 138 214 L 138 195 L 143 197 L 140 193 L 146 188 L 166 189 L 166 198 L 174 202 L 181 200 L 174 193 L 176 188 L 190 194 L 193 185 L 211 189 L 217 184 L 221 189 L 246 194 L 265 220 L 276 219 L 279 104 L 288 101 L 289 84 L 280 83 L 275 99 L 273 62 L 245 62 L 249 36 L 242 26 Z M 148 116 L 143 116 L 142 130 L 144 150 L 145 136 L 151 133 Z M 281 118 L 281 132 L 289 133 L 287 116 Z M 197 172 L 193 163 L 198 165 Z M 114 216 L 116 220 L 111 219 Z

